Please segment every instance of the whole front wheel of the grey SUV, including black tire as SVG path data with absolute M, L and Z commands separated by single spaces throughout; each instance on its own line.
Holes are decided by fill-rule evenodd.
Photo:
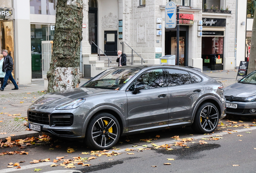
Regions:
M 85 143 L 95 150 L 111 149 L 120 136 L 120 125 L 116 117 L 109 113 L 99 113 L 87 126 Z

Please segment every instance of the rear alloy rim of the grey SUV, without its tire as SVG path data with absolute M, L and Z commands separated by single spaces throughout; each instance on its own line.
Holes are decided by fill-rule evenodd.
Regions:
M 218 125 L 218 112 L 215 107 L 208 105 L 200 113 L 200 125 L 205 131 L 212 131 Z

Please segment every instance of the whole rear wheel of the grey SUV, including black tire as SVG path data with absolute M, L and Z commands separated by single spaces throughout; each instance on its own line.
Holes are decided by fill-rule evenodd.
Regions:
M 194 118 L 192 129 L 198 133 L 211 133 L 219 123 L 219 111 L 213 103 L 203 103 Z

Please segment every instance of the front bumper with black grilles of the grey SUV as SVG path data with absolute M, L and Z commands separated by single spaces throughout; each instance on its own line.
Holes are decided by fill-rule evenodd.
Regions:
M 67 139 L 83 139 L 85 134 L 82 131 L 88 113 L 89 110 L 83 107 L 70 110 L 29 107 L 27 127 L 29 124 L 39 125 L 43 133 Z

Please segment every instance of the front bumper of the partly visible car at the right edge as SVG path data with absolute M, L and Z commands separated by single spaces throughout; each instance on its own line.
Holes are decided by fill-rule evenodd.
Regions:
M 256 102 L 227 101 L 227 103 L 237 104 L 237 109 L 227 108 L 227 115 L 256 116 Z M 251 109 L 254 109 L 255 113 L 251 113 Z

